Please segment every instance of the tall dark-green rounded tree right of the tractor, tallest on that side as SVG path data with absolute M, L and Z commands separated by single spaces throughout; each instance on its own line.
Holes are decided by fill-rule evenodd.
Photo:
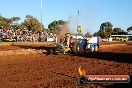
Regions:
M 112 33 L 112 27 L 113 25 L 111 24 L 111 22 L 102 23 L 97 34 L 102 38 L 108 38 Z

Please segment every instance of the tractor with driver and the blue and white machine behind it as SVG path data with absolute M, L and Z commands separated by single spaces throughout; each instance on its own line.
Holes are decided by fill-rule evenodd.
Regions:
M 85 38 L 82 35 L 73 36 L 68 33 L 68 36 L 71 37 L 69 45 L 61 42 L 57 47 L 56 51 L 74 53 L 74 54 L 85 54 L 87 52 L 97 52 L 99 48 L 99 37 Z M 67 37 L 67 35 L 66 35 Z

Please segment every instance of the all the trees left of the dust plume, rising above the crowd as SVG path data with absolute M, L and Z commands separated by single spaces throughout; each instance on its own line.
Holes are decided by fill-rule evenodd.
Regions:
M 48 25 L 48 29 L 46 29 L 44 25 L 32 15 L 26 15 L 25 20 L 21 23 L 18 23 L 19 20 L 21 20 L 20 17 L 6 18 L 0 16 L 0 26 L 2 26 L 5 30 L 12 27 L 15 29 L 27 29 L 29 31 L 49 31 L 59 34 L 61 26 L 66 23 L 66 21 L 63 20 L 53 21 Z

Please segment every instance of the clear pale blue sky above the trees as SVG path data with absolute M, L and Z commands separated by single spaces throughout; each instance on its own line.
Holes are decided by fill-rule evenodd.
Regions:
M 26 15 L 41 21 L 44 27 L 54 20 L 69 21 L 72 32 L 77 32 L 77 23 L 82 33 L 93 34 L 103 22 L 111 22 L 113 28 L 127 30 L 132 26 L 132 0 L 1 0 L 0 14 L 10 18 L 18 16 L 23 22 Z M 80 12 L 79 16 L 77 12 Z

